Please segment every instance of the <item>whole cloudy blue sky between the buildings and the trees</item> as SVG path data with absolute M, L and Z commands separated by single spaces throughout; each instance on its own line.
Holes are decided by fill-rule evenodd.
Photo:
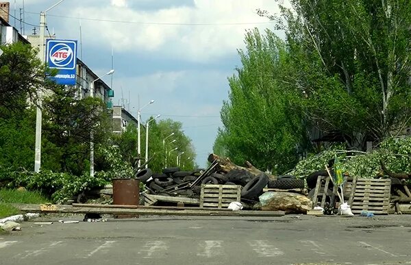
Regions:
M 24 34 L 39 25 L 40 11 L 58 0 L 10 0 L 19 17 L 24 3 Z M 182 123 L 196 162 L 206 166 L 220 111 L 228 99 L 227 77 L 240 67 L 247 29 L 273 29 L 257 9 L 278 12 L 273 0 L 66 0 L 47 12 L 47 27 L 58 39 L 79 42 L 78 58 L 97 75 L 114 65 L 114 105 L 141 120 L 160 114 Z M 14 13 L 14 10 L 16 10 Z M 14 25 L 14 18 L 10 18 Z M 21 24 L 16 21 L 16 28 Z M 37 29 L 38 33 L 38 29 Z

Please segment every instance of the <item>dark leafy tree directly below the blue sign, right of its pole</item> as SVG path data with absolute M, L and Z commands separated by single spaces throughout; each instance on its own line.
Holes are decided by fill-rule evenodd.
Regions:
M 111 135 L 110 117 L 101 99 L 77 99 L 75 86 L 56 86 L 43 103 L 44 169 L 82 175 L 88 171 L 90 130 L 96 150 Z M 103 168 L 96 152 L 96 171 Z

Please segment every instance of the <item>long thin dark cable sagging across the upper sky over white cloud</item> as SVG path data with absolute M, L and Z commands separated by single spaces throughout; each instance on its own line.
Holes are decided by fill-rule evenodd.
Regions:
M 34 12 L 26 12 L 29 14 L 37 14 Z M 167 22 L 138 22 L 138 21 L 118 21 L 114 19 L 103 19 L 103 18 L 82 18 L 79 16 L 61 16 L 47 14 L 47 16 L 55 16 L 58 18 L 70 18 L 70 19 L 81 19 L 82 21 L 99 21 L 99 22 L 112 22 L 112 23 L 127 23 L 127 24 L 138 24 L 138 25 L 181 25 L 181 26 L 225 26 L 225 25 L 253 25 L 253 24 L 271 24 L 273 21 L 267 22 L 247 22 L 247 23 L 167 23 Z

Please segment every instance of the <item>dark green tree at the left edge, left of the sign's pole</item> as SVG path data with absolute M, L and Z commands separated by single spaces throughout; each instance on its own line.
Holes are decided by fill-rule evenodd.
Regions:
M 0 164 L 5 168 L 34 165 L 34 125 L 38 92 L 55 85 L 45 79 L 51 71 L 36 57 L 31 45 L 0 46 Z

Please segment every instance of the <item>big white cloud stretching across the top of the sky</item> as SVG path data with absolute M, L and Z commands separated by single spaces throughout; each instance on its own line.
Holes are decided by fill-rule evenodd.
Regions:
M 236 49 L 243 45 L 245 29 L 272 27 L 271 23 L 261 24 L 268 20 L 258 16 L 256 9 L 276 12 L 277 4 L 273 2 L 195 0 L 193 6 L 133 10 L 127 8 L 125 0 L 112 0 L 111 5 L 121 8 L 112 8 L 111 5 L 77 5 L 72 9 L 71 16 L 129 21 L 112 23 L 82 20 L 84 42 L 92 42 L 99 49 L 107 46 L 120 52 L 153 52 L 169 58 L 210 62 L 236 53 Z M 237 25 L 230 25 L 233 23 Z M 241 23 L 251 24 L 239 25 Z M 73 21 L 67 21 L 66 28 L 73 28 L 72 25 Z

